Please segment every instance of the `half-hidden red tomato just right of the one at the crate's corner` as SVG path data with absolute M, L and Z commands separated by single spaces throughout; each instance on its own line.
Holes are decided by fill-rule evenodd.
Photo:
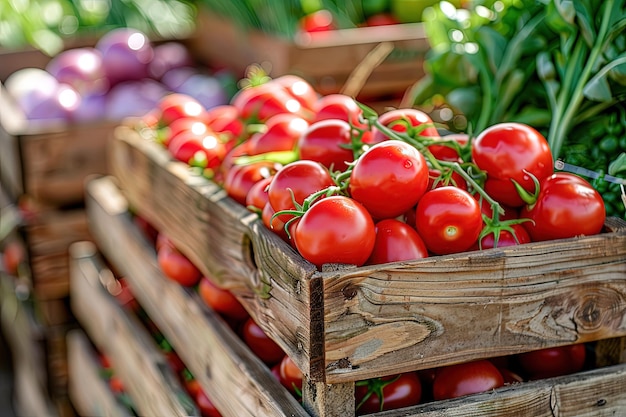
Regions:
M 427 257 L 424 241 L 411 226 L 396 219 L 376 223 L 376 243 L 367 260 L 368 265 Z

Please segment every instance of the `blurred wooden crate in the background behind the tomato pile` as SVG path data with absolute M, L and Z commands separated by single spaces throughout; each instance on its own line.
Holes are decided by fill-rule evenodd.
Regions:
M 423 77 L 424 55 L 430 48 L 422 23 L 342 29 L 289 41 L 258 31 L 246 33 L 200 8 L 197 28 L 188 45 L 203 61 L 241 75 L 250 64 L 268 63 L 272 76 L 300 75 L 321 94 L 342 91 L 370 52 L 381 44 L 392 46 L 380 65 L 365 72 L 365 78 L 355 74 L 362 82 L 356 90 L 348 87 L 352 90 L 348 93 L 362 98 L 404 93 Z

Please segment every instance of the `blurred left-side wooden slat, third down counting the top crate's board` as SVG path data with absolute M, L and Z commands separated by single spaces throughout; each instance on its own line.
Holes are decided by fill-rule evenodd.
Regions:
M 112 272 L 97 257 L 95 245 L 74 243 L 70 256 L 72 310 L 90 339 L 111 359 L 137 412 L 148 416 L 199 415 L 147 330 L 102 287 L 100 279 Z

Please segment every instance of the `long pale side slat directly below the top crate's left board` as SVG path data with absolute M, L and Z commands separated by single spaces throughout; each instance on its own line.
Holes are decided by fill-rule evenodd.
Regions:
M 160 271 L 154 248 L 131 222 L 110 178 L 88 184 L 87 211 L 98 247 L 224 416 L 307 413 L 243 342 L 198 296 Z M 264 321 L 279 320 L 266 309 Z

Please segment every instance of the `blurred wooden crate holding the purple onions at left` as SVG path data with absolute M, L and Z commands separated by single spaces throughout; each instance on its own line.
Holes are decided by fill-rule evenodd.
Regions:
M 28 195 L 49 207 L 79 205 L 85 178 L 105 174 L 115 121 L 38 125 L 0 84 L 0 182 L 17 201 Z

